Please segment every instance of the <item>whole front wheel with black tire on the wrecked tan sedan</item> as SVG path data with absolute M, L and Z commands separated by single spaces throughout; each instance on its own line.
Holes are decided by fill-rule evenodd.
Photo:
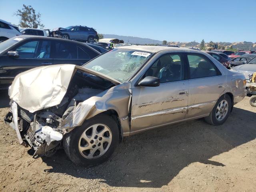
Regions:
M 115 120 L 100 114 L 66 134 L 63 146 L 72 162 L 90 167 L 108 160 L 118 142 L 119 129 Z

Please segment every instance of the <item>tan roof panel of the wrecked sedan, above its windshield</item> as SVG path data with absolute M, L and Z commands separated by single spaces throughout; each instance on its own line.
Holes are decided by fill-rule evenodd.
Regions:
M 133 49 L 140 51 L 147 51 L 152 53 L 157 53 L 164 50 L 179 50 L 179 51 L 190 51 L 190 52 L 201 52 L 197 50 L 192 50 L 190 48 L 181 48 L 181 47 L 167 47 L 167 46 L 150 46 L 150 45 L 130 45 L 118 47 L 118 49 Z

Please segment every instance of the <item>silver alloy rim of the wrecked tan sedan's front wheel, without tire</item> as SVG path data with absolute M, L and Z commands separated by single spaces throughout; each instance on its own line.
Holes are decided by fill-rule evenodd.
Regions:
M 94 124 L 82 133 L 78 142 L 80 154 L 87 159 L 99 158 L 110 147 L 112 133 L 104 124 Z

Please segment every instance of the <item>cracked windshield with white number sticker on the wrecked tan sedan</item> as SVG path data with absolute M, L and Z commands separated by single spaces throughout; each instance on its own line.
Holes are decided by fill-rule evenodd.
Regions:
M 102 54 L 83 67 L 123 83 L 130 79 L 151 55 L 150 52 L 117 48 Z

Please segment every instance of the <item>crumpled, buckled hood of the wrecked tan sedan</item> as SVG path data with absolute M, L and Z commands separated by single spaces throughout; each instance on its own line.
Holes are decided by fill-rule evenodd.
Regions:
M 10 89 L 10 99 L 20 107 L 35 112 L 60 104 L 76 65 L 42 66 L 18 74 Z

